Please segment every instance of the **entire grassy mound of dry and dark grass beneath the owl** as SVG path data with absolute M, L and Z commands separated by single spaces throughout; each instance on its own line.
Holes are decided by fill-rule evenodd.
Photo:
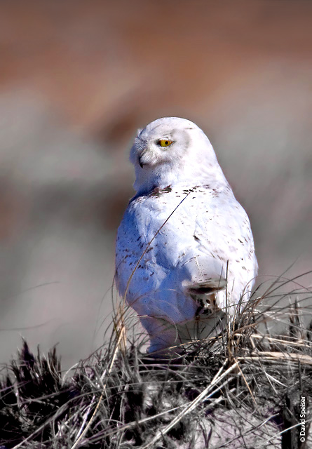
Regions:
M 34 356 L 24 342 L 1 380 L 0 448 L 312 447 L 312 343 L 303 321 L 311 295 L 293 290 L 292 306 L 281 305 L 278 282 L 222 333 L 168 358 L 147 356 L 143 336 L 126 337 L 123 307 L 109 342 L 70 375 L 55 349 Z M 287 323 L 283 333 L 269 328 L 274 321 Z

